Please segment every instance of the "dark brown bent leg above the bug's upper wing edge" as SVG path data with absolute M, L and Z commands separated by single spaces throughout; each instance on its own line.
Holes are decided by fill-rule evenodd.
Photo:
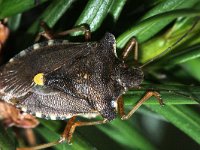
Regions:
M 54 39 L 56 37 L 65 36 L 65 35 L 68 35 L 70 33 L 76 32 L 76 31 L 84 32 L 84 36 L 85 36 L 86 41 L 91 39 L 90 28 L 87 25 L 80 25 L 80 26 L 74 27 L 70 30 L 66 30 L 66 31 L 58 32 L 58 33 L 53 32 L 52 29 L 43 21 L 40 23 L 40 25 L 41 25 L 41 27 L 43 28 L 44 31 L 42 31 L 38 34 L 35 41 L 38 41 L 41 38 L 41 36 L 45 37 L 48 40 L 51 40 L 51 39 Z

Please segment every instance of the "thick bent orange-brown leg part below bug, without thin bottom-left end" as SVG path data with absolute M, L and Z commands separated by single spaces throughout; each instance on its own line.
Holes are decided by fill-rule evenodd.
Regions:
M 72 117 L 70 119 L 70 121 L 71 122 L 69 124 L 67 124 L 67 126 L 65 127 L 65 130 L 62 134 L 63 140 L 67 140 L 68 143 L 71 142 L 72 135 L 73 135 L 76 127 L 104 124 L 104 123 L 108 122 L 107 119 L 103 119 L 103 120 L 99 120 L 99 121 L 91 121 L 91 122 L 81 122 L 81 121 L 75 122 L 75 117 Z

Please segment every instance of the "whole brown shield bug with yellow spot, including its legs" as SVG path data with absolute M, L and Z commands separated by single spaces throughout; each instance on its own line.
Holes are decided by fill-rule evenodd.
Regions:
M 45 32 L 40 35 L 49 41 L 21 51 L 0 68 L 1 99 L 39 118 L 69 119 L 58 141 L 33 149 L 47 148 L 65 140 L 69 143 L 76 127 L 109 122 L 116 118 L 117 112 L 121 119 L 128 119 L 151 96 L 163 105 L 158 92 L 147 91 L 130 112 L 124 112 L 122 95 L 131 88 L 140 88 L 144 77 L 142 67 L 146 65 L 130 67 L 125 63 L 132 50 L 135 61 L 138 60 L 134 38 L 118 57 L 111 33 L 106 33 L 98 42 L 71 43 L 52 38 L 83 30 L 88 40 L 89 29 L 82 26 L 53 34 L 44 23 L 43 27 Z M 103 119 L 80 122 L 75 120 L 77 116 L 102 116 Z

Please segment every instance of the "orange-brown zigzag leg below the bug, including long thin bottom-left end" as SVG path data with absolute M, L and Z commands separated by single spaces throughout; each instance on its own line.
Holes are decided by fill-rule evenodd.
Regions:
M 62 142 L 64 142 L 65 140 L 67 140 L 68 143 L 70 143 L 72 135 L 76 129 L 76 127 L 79 126 L 91 126 L 91 125 L 97 125 L 97 124 L 104 124 L 106 122 L 108 122 L 107 119 L 103 119 L 103 120 L 99 120 L 99 121 L 91 121 L 91 122 L 81 122 L 81 121 L 75 121 L 76 117 L 72 117 L 71 119 L 69 119 L 65 130 L 63 132 L 63 134 L 61 135 L 60 140 L 54 141 L 54 142 L 50 142 L 50 143 L 46 143 L 46 144 L 41 144 L 38 146 L 34 146 L 34 147 L 27 147 L 27 148 L 17 148 L 17 150 L 39 150 L 39 149 L 44 149 L 44 148 L 48 148 L 48 147 L 52 147 L 55 146 L 57 144 L 60 144 Z

